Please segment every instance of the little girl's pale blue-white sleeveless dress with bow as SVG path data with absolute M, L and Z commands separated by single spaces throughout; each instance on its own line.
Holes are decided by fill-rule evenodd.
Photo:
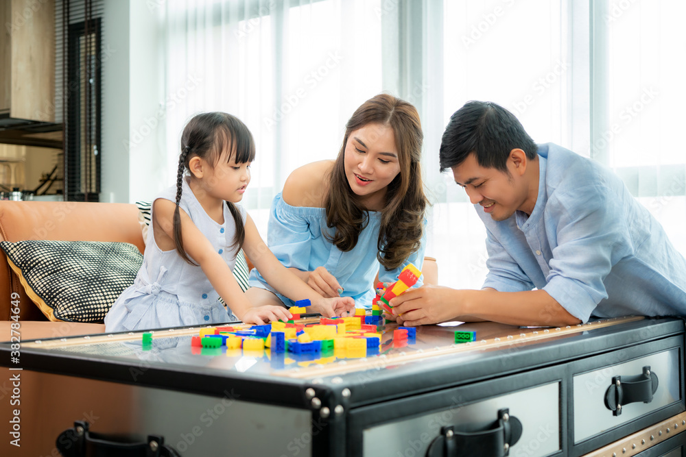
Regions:
M 176 186 L 168 188 L 157 198 L 176 201 Z M 229 269 L 233 269 L 238 248 L 231 247 L 236 227 L 228 207 L 224 206 L 224 223 L 215 222 L 200 206 L 187 178 L 182 183 L 179 205 L 224 258 Z M 241 206 L 237 207 L 245 225 L 246 211 Z M 151 218 L 154 221 L 154 217 Z M 219 301 L 219 294 L 200 267 L 185 262 L 176 249 L 162 251 L 157 246 L 152 227 L 147 232 L 146 246 L 143 265 L 134 284 L 121 293 L 105 316 L 106 332 L 237 320 Z

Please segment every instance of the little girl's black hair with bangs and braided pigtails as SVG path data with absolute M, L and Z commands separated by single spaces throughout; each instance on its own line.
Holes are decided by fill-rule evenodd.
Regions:
M 244 164 L 255 160 L 255 141 L 248 127 L 235 116 L 225 112 L 206 112 L 193 116 L 188 121 L 181 134 L 181 153 L 178 158 L 178 173 L 176 173 L 176 208 L 174 208 L 174 245 L 176 252 L 183 260 L 195 265 L 183 249 L 181 237 L 181 215 L 179 203 L 181 201 L 182 180 L 185 170 L 189 168 L 189 161 L 193 157 L 200 157 L 217 164 L 222 151 L 230 151 L 228 160 L 235 154 L 235 162 Z M 246 239 L 246 228 L 243 225 L 241 213 L 234 203 L 226 201 L 226 206 L 236 224 L 236 235 L 233 245 L 240 249 Z

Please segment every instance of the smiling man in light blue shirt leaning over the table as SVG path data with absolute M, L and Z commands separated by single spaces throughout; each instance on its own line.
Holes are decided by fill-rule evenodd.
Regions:
M 453 171 L 486 225 L 488 275 L 480 291 L 407 291 L 390 302 L 399 322 L 686 315 L 686 260 L 597 162 L 537 146 L 512 113 L 471 101 L 445 129 L 440 168 Z

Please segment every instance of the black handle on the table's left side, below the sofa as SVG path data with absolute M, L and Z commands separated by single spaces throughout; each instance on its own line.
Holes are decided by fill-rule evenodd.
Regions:
M 149 435 L 145 443 L 110 441 L 106 436 L 88 431 L 85 421 L 74 422 L 57 437 L 57 449 L 64 457 L 181 457 L 173 447 L 165 445 L 163 436 Z

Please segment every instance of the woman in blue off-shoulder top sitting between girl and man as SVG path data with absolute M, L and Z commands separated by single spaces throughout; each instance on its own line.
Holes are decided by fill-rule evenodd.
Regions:
M 353 297 L 367 308 L 377 271 L 393 282 L 410 262 L 421 269 L 422 140 L 406 101 L 382 94 L 357 108 L 338 158 L 296 169 L 274 198 L 268 243 L 276 257 L 324 297 Z M 257 271 L 246 294 L 254 304 L 291 303 Z

